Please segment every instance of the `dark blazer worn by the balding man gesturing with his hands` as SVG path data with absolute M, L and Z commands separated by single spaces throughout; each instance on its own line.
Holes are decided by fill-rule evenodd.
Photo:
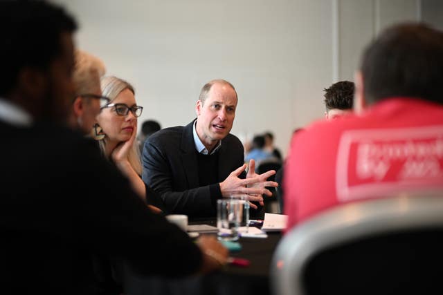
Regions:
M 199 187 L 197 152 L 192 135 L 192 121 L 157 131 L 143 148 L 142 178 L 160 194 L 170 213 L 183 213 L 190 218 L 215 217 L 216 200 L 221 198 L 219 184 Z M 242 142 L 228 134 L 221 140 L 219 182 L 244 164 Z M 245 177 L 243 173 L 242 178 Z

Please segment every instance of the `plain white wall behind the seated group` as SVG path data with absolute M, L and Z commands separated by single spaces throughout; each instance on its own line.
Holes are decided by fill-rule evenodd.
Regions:
M 284 153 L 293 129 L 323 117 L 323 88 L 353 79 L 376 32 L 419 19 L 425 7 L 419 0 L 53 2 L 80 23 L 78 47 L 103 59 L 108 75 L 134 84 L 145 107 L 139 124 L 188 124 L 201 87 L 223 78 L 239 95 L 231 132 L 244 139 L 273 131 Z

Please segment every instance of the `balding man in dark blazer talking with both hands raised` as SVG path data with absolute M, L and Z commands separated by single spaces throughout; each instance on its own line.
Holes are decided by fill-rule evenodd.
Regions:
M 246 174 L 242 142 L 229 133 L 236 107 L 234 86 L 210 81 L 201 89 L 196 120 L 162 129 L 145 142 L 143 181 L 161 195 L 170 213 L 215 217 L 217 199 L 234 194 L 263 206 L 262 194 L 271 196 L 265 187 L 278 186 L 266 181 L 275 171 L 257 175 L 253 160 Z

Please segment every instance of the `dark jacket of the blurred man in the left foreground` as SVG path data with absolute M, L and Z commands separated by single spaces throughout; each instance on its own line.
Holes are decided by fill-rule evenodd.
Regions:
M 198 269 L 195 243 L 151 213 L 94 144 L 47 124 L 0 120 L 0 134 L 0 293 L 98 294 L 96 254 L 144 274 Z

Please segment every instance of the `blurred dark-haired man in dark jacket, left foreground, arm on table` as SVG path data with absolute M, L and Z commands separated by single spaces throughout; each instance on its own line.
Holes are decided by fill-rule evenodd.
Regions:
M 156 276 L 226 263 L 217 240 L 197 245 L 152 213 L 96 146 L 66 129 L 73 18 L 43 1 L 1 1 L 0 16 L 2 292 L 100 294 L 94 254 Z

